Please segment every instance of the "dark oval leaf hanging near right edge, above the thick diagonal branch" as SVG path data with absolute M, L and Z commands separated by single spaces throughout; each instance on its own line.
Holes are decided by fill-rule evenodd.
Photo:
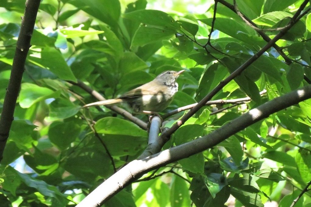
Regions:
M 292 90 L 299 88 L 304 79 L 304 68 L 299 64 L 292 63 L 286 78 Z

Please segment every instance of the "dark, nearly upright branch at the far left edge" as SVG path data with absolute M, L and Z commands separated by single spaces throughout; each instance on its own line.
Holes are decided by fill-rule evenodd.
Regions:
M 40 0 L 26 1 L 25 13 L 21 21 L 21 30 L 16 43 L 11 76 L 4 97 L 0 118 L 0 161 L 2 160 L 4 147 L 14 120 L 16 100 L 21 88 L 21 79 L 25 70 L 26 57 L 30 48 L 30 39 L 34 30 L 39 5 Z

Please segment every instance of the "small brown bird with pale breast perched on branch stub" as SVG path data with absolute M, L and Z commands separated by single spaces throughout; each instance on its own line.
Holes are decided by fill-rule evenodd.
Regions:
M 134 112 L 160 112 L 172 102 L 178 90 L 176 79 L 183 71 L 165 71 L 153 81 L 128 91 L 118 99 L 98 101 L 84 107 L 126 102 Z

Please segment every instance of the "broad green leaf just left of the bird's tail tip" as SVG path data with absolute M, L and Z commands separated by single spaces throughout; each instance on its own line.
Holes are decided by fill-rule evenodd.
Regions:
M 49 117 L 45 121 L 51 122 L 72 117 L 78 113 L 80 106 L 73 104 L 68 99 L 55 99 L 49 104 Z

